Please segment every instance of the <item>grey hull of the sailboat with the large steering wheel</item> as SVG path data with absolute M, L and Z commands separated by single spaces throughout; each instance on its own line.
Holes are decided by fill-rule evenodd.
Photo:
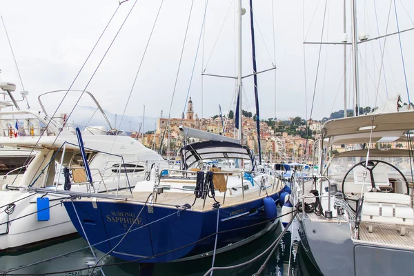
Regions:
M 414 257 L 414 248 L 355 242 L 348 223 L 311 221 L 302 214 L 298 217 L 304 251 L 324 276 L 406 275 L 412 270 L 409 260 Z

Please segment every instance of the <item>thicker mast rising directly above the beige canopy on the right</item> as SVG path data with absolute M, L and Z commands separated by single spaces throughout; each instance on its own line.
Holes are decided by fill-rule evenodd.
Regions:
M 352 10 L 352 57 L 353 57 L 353 85 L 355 91 L 355 110 L 354 116 L 359 115 L 359 78 L 358 78 L 358 34 L 357 34 L 357 3 L 355 0 L 351 0 Z

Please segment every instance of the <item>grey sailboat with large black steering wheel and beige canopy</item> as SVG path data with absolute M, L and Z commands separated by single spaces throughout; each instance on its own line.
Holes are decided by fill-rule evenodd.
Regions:
M 368 115 L 324 124 L 318 175 L 297 179 L 294 187 L 301 242 L 323 275 L 406 275 L 412 270 L 413 126 L 413 107 L 400 96 Z M 406 148 L 389 147 L 399 144 Z M 324 148 L 338 145 L 351 150 L 325 161 Z

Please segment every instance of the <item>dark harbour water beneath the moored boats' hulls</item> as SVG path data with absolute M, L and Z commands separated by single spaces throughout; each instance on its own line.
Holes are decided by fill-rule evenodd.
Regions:
M 304 248 L 299 242 L 297 235 L 297 226 L 291 226 L 291 232 L 284 235 L 282 241 L 277 246 L 277 249 L 271 255 L 266 267 L 260 275 L 319 275 L 318 270 L 313 266 L 308 259 Z M 253 259 L 266 248 L 282 233 L 278 228 L 259 239 L 256 239 L 249 244 L 230 250 L 226 253 L 221 253 L 215 258 L 215 266 L 234 266 L 250 259 Z M 139 242 L 137 242 L 139 246 Z M 79 248 L 84 248 L 78 250 Z M 76 251 L 76 252 L 72 252 Z M 71 253 L 72 252 L 72 253 Z M 270 253 L 270 250 L 268 251 Z M 97 258 L 103 256 L 103 253 L 94 249 Z M 213 275 L 253 275 L 257 273 L 260 266 L 268 257 L 266 253 L 264 256 L 240 268 L 233 268 L 229 270 L 215 270 Z M 56 259 L 47 262 L 42 260 L 49 259 L 61 255 Z M 34 264 L 41 262 L 39 264 Z M 5 252 L 0 255 L 0 271 L 3 273 L 10 271 L 6 275 L 204 275 L 206 271 L 211 268 L 213 258 L 206 257 L 194 261 L 186 262 L 172 262 L 165 264 L 137 264 L 128 263 L 121 264 L 123 260 L 115 257 L 106 256 L 101 261 L 104 266 L 103 273 L 99 268 L 95 268 L 92 272 L 92 266 L 95 264 L 95 257 L 88 248 L 88 243 L 79 237 L 79 235 L 72 235 L 55 241 L 41 244 L 32 248 L 26 248 L 15 252 Z M 23 267 L 28 264 L 32 266 Z M 89 267 L 89 268 L 88 268 Z M 14 270 L 15 268 L 20 268 Z M 86 268 L 86 269 L 82 269 Z M 92 272 L 92 274 L 91 274 Z M 55 273 L 55 274 L 49 274 Z M 4 274 L 1 274 L 4 275 Z

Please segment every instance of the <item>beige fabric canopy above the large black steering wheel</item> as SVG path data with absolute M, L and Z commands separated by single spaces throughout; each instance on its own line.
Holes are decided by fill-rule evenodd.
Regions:
M 406 141 L 406 131 L 414 129 L 414 111 L 362 115 L 327 121 L 324 137 L 329 144 Z

